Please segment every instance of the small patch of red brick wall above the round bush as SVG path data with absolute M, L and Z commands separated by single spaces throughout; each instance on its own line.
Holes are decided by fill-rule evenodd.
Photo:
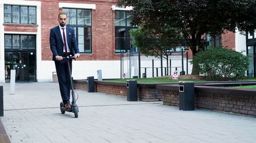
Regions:
M 225 34 L 221 35 L 221 42 L 223 46 L 228 46 L 229 49 L 236 50 L 235 36 L 235 33 L 225 31 Z

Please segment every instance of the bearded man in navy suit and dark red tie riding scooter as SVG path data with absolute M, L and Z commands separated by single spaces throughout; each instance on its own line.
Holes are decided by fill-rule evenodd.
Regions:
M 52 28 L 50 32 L 50 46 L 53 53 L 53 61 L 59 81 L 59 89 L 62 101 L 65 108 L 71 108 L 70 104 L 70 75 L 68 71 L 67 60 L 62 60 L 63 57 L 73 55 L 75 59 L 79 57 L 79 48 L 77 45 L 74 29 L 66 26 L 68 21 L 66 13 L 58 15 L 59 25 Z M 72 60 L 70 69 L 72 71 Z

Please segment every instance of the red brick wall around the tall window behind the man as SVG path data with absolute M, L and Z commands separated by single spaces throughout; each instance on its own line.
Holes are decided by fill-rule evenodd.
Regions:
M 58 25 L 57 16 L 62 11 L 59 9 L 62 1 L 41 1 L 41 47 L 42 60 L 52 60 L 52 52 L 49 44 L 50 29 Z M 114 56 L 114 12 L 112 5 L 116 1 L 65 1 L 64 3 L 96 4 L 96 10 L 92 10 L 92 54 L 81 54 L 78 60 L 119 60 L 120 56 Z

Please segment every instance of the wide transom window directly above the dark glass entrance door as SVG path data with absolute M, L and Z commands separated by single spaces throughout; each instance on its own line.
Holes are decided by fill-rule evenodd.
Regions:
M 35 35 L 5 35 L 5 49 L 35 49 Z

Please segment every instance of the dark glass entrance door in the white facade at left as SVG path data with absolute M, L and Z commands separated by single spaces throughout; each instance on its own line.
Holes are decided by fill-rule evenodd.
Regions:
M 5 52 L 6 82 L 11 70 L 16 70 L 15 81 L 36 81 L 35 61 L 35 52 Z

